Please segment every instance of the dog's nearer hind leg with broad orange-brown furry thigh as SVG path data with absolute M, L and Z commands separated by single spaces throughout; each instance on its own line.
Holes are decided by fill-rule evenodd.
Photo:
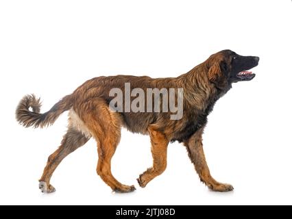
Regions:
M 111 160 L 121 138 L 122 119 L 119 113 L 110 111 L 103 99 L 83 103 L 81 118 L 97 140 L 97 174 L 114 192 L 133 192 L 134 185 L 123 185 L 112 175 Z M 87 110 L 90 109 L 90 110 Z

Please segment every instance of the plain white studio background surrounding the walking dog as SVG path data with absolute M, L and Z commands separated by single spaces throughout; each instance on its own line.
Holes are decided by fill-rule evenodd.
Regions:
M 1 204 L 292 204 L 291 12 L 282 1 L 1 1 Z M 186 149 L 169 144 L 168 167 L 145 189 L 149 137 L 123 130 L 112 161 L 132 194 L 113 194 L 95 172 L 94 140 L 38 179 L 66 131 L 64 113 L 47 129 L 25 129 L 14 111 L 25 94 L 46 112 L 100 75 L 176 77 L 222 49 L 258 55 L 253 81 L 234 84 L 215 105 L 204 149 L 215 179 L 234 192 L 210 192 Z

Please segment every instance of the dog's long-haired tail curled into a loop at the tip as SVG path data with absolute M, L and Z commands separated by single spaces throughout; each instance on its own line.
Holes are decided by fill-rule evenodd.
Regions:
M 24 96 L 16 108 L 16 120 L 24 127 L 42 128 L 52 125 L 60 114 L 72 107 L 71 95 L 64 96 L 63 99 L 51 107 L 51 110 L 44 114 L 40 114 L 40 107 L 40 99 L 36 99 L 34 94 Z

